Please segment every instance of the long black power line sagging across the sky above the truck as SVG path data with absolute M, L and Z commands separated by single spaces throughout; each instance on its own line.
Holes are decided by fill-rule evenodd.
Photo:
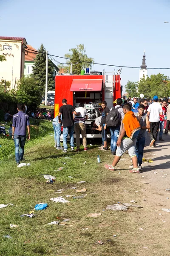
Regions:
M 28 49 L 28 51 L 30 51 Z M 28 52 L 27 51 L 27 52 Z M 46 54 L 45 52 L 38 52 L 38 51 L 35 51 L 33 49 L 31 49 L 31 53 L 37 53 L 37 54 L 40 54 L 40 53 L 44 53 Z M 63 58 L 63 59 L 67 59 L 67 60 L 71 60 L 71 61 L 77 61 L 75 59 L 72 59 L 72 58 L 66 58 L 66 57 L 61 57 L 61 56 L 57 56 L 57 55 L 52 55 L 52 54 L 49 54 L 48 53 L 48 56 L 53 56 L 53 57 L 57 57 L 57 58 Z M 56 61 L 56 60 L 55 60 Z M 104 63 L 97 63 L 97 62 L 89 62 L 89 61 L 79 61 L 79 62 L 83 62 L 83 63 L 88 63 L 88 64 L 96 64 L 96 65 L 102 65 L 102 66 L 109 66 L 109 67 L 125 67 L 125 68 L 136 68 L 136 69 L 140 69 L 140 67 L 131 67 L 131 66 L 120 66 L 120 65 L 111 65 L 111 64 L 104 64 Z M 61 63 L 63 64 L 63 63 Z M 170 70 L 170 67 L 147 67 L 147 69 L 153 69 L 153 70 Z

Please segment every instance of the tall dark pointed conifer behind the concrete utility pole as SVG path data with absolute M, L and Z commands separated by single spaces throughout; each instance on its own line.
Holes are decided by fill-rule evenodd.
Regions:
M 44 95 L 45 93 L 45 74 L 46 74 L 46 51 L 43 44 L 41 44 L 40 49 L 38 49 L 38 54 L 35 58 L 35 64 L 33 67 L 33 78 L 39 85 L 39 89 Z M 48 59 L 48 90 L 54 89 L 54 63 Z

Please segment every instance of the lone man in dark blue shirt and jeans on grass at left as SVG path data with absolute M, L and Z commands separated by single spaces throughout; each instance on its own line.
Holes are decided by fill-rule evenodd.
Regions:
M 28 130 L 27 140 L 30 140 L 30 128 L 29 128 L 29 116 L 24 113 L 24 105 L 18 103 L 17 105 L 18 113 L 13 116 L 12 123 L 12 139 L 15 143 L 15 160 L 17 166 L 20 164 L 20 161 L 24 160 L 24 146 L 26 143 L 26 128 Z

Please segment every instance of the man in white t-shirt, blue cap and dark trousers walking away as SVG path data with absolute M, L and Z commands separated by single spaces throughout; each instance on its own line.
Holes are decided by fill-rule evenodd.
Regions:
M 162 107 L 158 103 L 158 96 L 153 97 L 153 103 L 149 105 L 147 115 L 149 116 L 150 122 L 150 147 L 155 147 L 155 142 L 159 131 L 160 115 L 162 115 Z

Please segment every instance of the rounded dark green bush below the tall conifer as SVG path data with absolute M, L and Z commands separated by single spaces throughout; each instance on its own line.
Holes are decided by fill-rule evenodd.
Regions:
M 17 102 L 23 102 L 28 106 L 37 107 L 40 104 L 42 94 L 40 85 L 31 77 L 26 76 L 17 81 Z

